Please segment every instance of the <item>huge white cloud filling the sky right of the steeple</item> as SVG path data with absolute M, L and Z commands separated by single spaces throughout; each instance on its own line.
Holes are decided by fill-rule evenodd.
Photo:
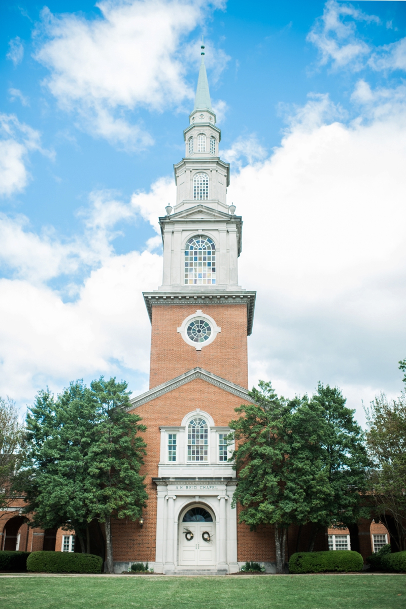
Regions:
M 257 290 L 251 382 L 287 395 L 338 384 L 359 410 L 401 388 L 406 355 L 406 108 L 399 91 L 369 91 L 351 124 L 310 100 L 228 189 L 244 220 L 239 283 Z

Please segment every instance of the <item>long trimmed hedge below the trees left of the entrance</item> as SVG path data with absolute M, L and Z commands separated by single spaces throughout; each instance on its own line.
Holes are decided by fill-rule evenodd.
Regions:
M 27 571 L 35 573 L 101 573 L 103 559 L 94 554 L 74 552 L 31 552 Z

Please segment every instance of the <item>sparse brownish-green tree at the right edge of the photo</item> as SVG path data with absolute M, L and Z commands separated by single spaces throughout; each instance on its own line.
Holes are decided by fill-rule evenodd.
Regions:
M 392 543 L 399 551 L 406 550 L 406 394 L 388 400 L 381 393 L 366 409 L 366 418 L 371 498 Z

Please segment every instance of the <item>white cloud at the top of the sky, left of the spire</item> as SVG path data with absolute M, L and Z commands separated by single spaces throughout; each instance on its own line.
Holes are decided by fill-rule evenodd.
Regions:
M 131 124 L 129 113 L 163 111 L 193 98 L 182 41 L 204 21 L 208 5 L 132 0 L 97 6 L 102 16 L 93 20 L 44 9 L 46 40 L 35 57 L 51 72 L 49 90 L 62 107 L 79 113 L 83 128 L 127 148 L 149 146 L 152 138 L 142 124 Z

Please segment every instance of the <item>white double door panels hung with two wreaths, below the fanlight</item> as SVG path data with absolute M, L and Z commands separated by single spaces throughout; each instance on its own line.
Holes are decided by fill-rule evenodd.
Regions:
M 179 541 L 180 565 L 212 566 L 215 564 L 214 524 L 181 523 Z

